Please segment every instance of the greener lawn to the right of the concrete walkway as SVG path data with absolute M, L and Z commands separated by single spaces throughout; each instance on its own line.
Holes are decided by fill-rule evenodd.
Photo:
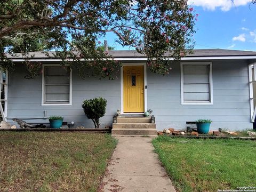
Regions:
M 153 145 L 178 191 L 256 187 L 255 141 L 162 136 Z

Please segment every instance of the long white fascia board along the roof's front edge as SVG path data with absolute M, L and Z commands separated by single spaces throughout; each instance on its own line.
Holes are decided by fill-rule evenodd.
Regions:
M 219 59 L 256 59 L 256 55 L 253 56 L 220 56 L 220 57 L 183 57 L 181 60 L 219 60 Z M 147 58 L 113 58 L 114 61 L 147 61 Z M 173 58 L 166 58 L 166 60 L 174 60 Z M 12 59 L 13 62 L 22 62 L 25 61 L 24 59 Z M 61 59 L 36 59 L 32 58 L 29 59 L 29 61 L 38 61 L 38 62 L 51 62 L 51 61 L 62 61 Z M 73 61 L 73 59 L 67 59 L 66 61 Z M 84 59 L 81 59 L 80 61 L 84 61 Z

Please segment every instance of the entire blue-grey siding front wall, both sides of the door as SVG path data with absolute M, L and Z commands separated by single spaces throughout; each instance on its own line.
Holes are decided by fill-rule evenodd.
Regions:
M 196 61 L 191 61 L 196 62 Z M 209 61 L 206 61 L 209 62 Z M 84 99 L 107 99 L 107 113 L 100 119 L 101 127 L 111 125 L 112 117 L 120 109 L 120 78 L 110 81 L 98 78 L 81 79 L 73 71 L 72 106 L 41 106 L 42 76 L 25 79 L 25 69 L 17 65 L 9 77 L 9 118 L 31 118 L 60 115 L 64 121 L 94 127 L 81 107 Z M 213 61 L 213 105 L 181 105 L 180 63 L 171 64 L 169 75 L 150 73 L 147 69 L 147 108 L 153 109 L 157 129 L 165 127 L 185 129 L 186 121 L 198 118 L 212 119 L 211 129 L 242 130 L 252 128 L 250 123 L 249 78 L 245 61 Z M 11 119 L 9 119 L 11 121 Z M 47 119 L 28 122 L 48 123 Z

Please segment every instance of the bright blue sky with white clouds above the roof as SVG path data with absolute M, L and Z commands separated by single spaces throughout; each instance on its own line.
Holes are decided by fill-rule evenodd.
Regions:
M 256 5 L 251 0 L 189 0 L 198 13 L 195 49 L 231 49 L 256 51 Z M 115 50 L 129 50 L 105 37 Z

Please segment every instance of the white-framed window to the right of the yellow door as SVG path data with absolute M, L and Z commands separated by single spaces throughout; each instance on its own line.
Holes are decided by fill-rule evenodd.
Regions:
M 212 105 L 212 63 L 181 63 L 181 104 Z

